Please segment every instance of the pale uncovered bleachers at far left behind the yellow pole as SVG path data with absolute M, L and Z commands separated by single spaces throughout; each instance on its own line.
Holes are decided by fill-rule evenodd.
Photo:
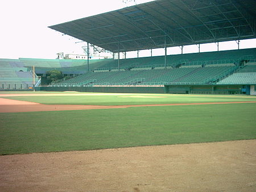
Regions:
M 90 60 L 89 70 L 100 68 L 113 60 Z M 86 60 L 55 59 L 0 59 L 0 89 L 27 89 L 32 86 L 32 66 L 35 73 L 45 76 L 49 70 L 60 70 L 64 75 L 77 75 L 88 72 Z M 44 77 L 46 78 L 46 77 Z M 38 78 L 36 78 L 38 82 Z M 22 88 L 20 88 L 22 87 Z

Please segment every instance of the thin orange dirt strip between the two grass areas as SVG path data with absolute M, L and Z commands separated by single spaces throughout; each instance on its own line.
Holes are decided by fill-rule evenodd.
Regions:
M 180 105 L 213 105 L 213 104 L 229 104 L 229 103 L 256 103 L 256 101 L 100 106 L 100 105 L 43 105 L 43 104 L 34 103 L 34 102 L 16 101 L 13 99 L 0 98 L 0 112 L 92 110 L 92 109 L 100 109 L 100 108 L 127 108 L 127 107 L 180 106 Z

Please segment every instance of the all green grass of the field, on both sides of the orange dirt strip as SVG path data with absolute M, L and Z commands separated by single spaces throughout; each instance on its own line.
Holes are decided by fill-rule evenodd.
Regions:
M 42 94 L 42 93 L 40 93 Z M 138 105 L 256 101 L 256 97 L 155 95 L 5 97 L 44 104 Z M 256 138 L 256 103 L 0 114 L 0 154 L 92 150 Z

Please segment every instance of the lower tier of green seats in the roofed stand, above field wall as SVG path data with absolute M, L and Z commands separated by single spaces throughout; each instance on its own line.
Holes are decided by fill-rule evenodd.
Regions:
M 57 85 L 88 84 L 207 84 L 220 75 L 226 76 L 234 70 L 233 66 L 212 68 L 174 68 L 151 70 L 126 70 L 116 72 L 85 73 Z

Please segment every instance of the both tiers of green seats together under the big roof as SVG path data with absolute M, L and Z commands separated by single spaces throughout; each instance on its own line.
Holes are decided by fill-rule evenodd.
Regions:
M 255 70 L 251 65 L 256 58 L 256 49 L 241 49 L 221 52 L 189 53 L 185 55 L 141 57 L 108 61 L 93 72 L 82 74 L 71 80 L 53 82 L 63 85 L 207 85 L 220 82 L 240 70 Z M 96 73 L 98 72 L 98 73 Z

